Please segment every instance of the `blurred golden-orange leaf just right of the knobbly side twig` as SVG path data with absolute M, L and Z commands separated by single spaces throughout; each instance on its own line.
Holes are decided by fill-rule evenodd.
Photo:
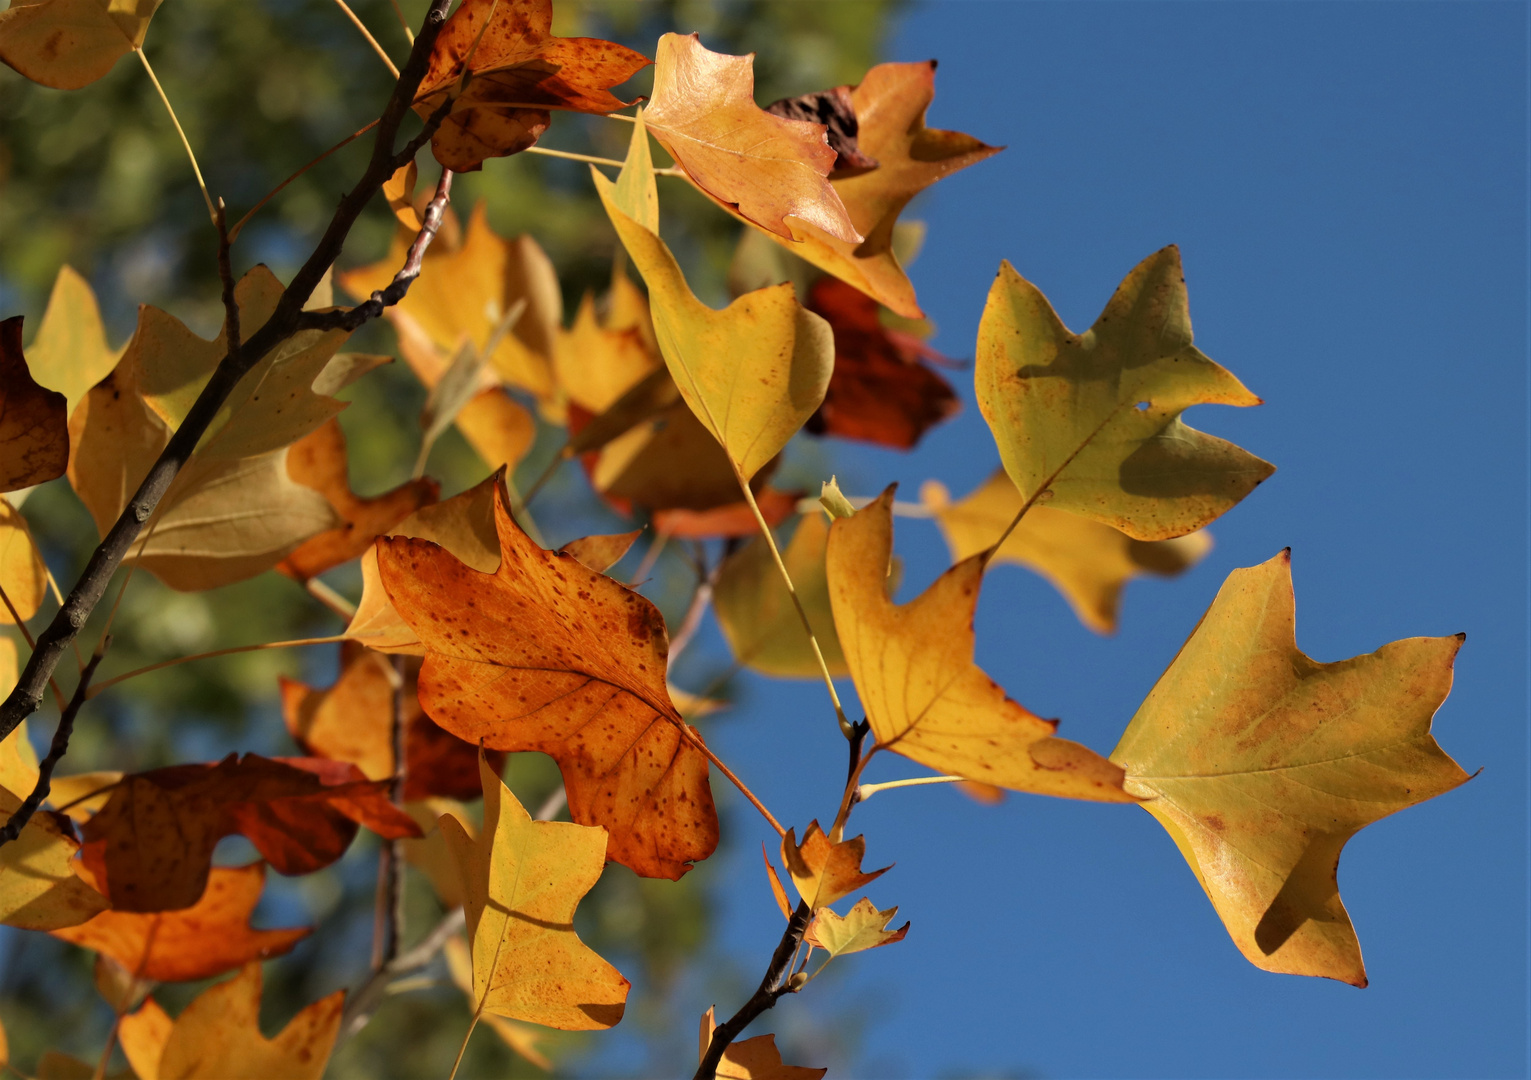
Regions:
M 400 230 L 387 254 L 340 274 L 340 285 L 357 299 L 386 288 L 413 239 L 412 231 Z M 524 389 L 540 401 L 553 394 L 554 337 L 563 322 L 559 276 L 534 239 L 525 234 L 504 239 L 495 233 L 482 202 L 473 207 L 461 247 L 430 245 L 419 277 L 398 306 L 389 309 L 389 319 L 400 328 L 398 314 L 409 316 L 439 351 L 436 363 L 444 371 L 446 358 L 464 339 L 482 352 L 499 320 L 517 300 L 525 300 L 527 308 L 511 331 L 501 337 L 495 352 L 485 357 L 485 365 L 508 386 Z M 404 337 L 403 328 L 400 337 Z M 407 352 L 404 358 L 415 366 L 427 389 L 439 378 L 439 372 L 427 377 Z M 491 461 L 490 467 L 498 464 Z

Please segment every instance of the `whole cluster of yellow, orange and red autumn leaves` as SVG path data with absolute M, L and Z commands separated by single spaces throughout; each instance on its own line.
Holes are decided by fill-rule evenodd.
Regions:
M 142 57 L 156 8 L 18 2 L 0 14 L 0 60 L 49 86 L 84 86 L 121 55 Z M 625 161 L 596 161 L 589 173 L 645 288 L 619 263 L 606 296 L 586 296 L 566 328 L 557 273 L 534 239 L 498 236 L 479 210 L 465 227 L 447 219 L 453 176 L 539 150 L 556 112 L 632 109 L 612 90 L 651 61 L 612 41 L 554 35 L 548 0 L 462 0 L 441 23 L 444 12 L 433 6 L 433 37 L 423 32 L 412 58 L 421 63 L 400 80 L 415 80 L 400 104 L 421 118 L 439 179 L 416 193 L 410 159 L 363 191 L 387 199 L 398 233 L 381 262 L 338 274 L 361 303 L 335 306 L 328 283 L 297 297 L 305 316 L 250 357 L 216 409 L 204 401 L 224 365 L 291 305 L 289 286 L 265 267 L 233 280 L 239 227 L 228 230 L 220 210 L 217 339 L 145 305 L 115 349 L 67 268 L 24 352 L 21 319 L 0 323 L 3 490 L 67 475 L 103 550 L 133 529 L 118 558 L 170 588 L 274 570 L 346 623 L 331 639 L 341 650 L 332 686 L 280 686 L 302 757 L 52 775 L 84 702 L 136 674 L 92 685 L 104 634 L 67 703 L 55 691 L 61 718 L 47 758 L 37 760 L 20 715 L 0 743 L 0 809 L 14 812 L 0 847 L 0 921 L 96 953 L 96 985 L 132 1072 L 317 1077 L 387 985 L 438 951 L 465 993 L 468 1034 L 485 1019 L 548 1065 L 540 1028 L 611 1028 L 631 985 L 579 939 L 576 907 L 608 862 L 675 881 L 707 859 L 720 843 L 713 769 L 778 833 L 798 901 L 767 853 L 766 885 L 787 927 L 744 1006 L 721 1025 L 712 1010 L 703 1016 L 701 1077 L 822 1075 L 782 1065 L 770 1036 L 738 1037 L 824 965 L 903 939 L 908 924 L 890 928 L 896 907 L 863 895 L 834 910 L 885 873 L 862 870 L 863 839 L 845 829 L 879 790 L 932 781 L 984 798 L 1136 803 L 1174 838 L 1252 964 L 1364 985 L 1338 896 L 1340 850 L 1370 821 L 1467 778 L 1430 735 L 1461 639 L 1315 663 L 1295 645 L 1281 553 L 1228 578 L 1107 757 L 1059 738 L 1056 722 L 974 662 L 974 611 L 995 561 L 1046 574 L 1105 631 L 1128 579 L 1194 564 L 1209 544 L 1200 530 L 1272 472 L 1182 420 L 1194 404 L 1258 398 L 1193 345 L 1179 251 L 1144 259 L 1082 334 L 1000 267 L 974 377 L 1001 469 L 969 496 L 952 502 L 934 481 L 912 509 L 891 487 L 859 501 L 833 481 L 816 501 L 778 490 L 770 479 L 804 429 L 908 449 L 952 415 L 955 395 L 937 371 L 945 360 L 922 340 L 899 218 L 923 188 L 997 147 L 926 127 L 934 63 L 880 64 L 854 86 L 761 109 L 750 57 L 664 34 L 654 89 L 623 116 Z M 654 164 L 651 139 L 674 164 Z M 615 179 L 602 164 L 617 167 Z M 698 299 L 663 239 L 658 178 L 739 222 L 726 308 Z M 392 358 L 343 351 L 383 311 L 427 392 L 421 447 L 413 479 L 358 496 L 335 394 Z M 452 427 L 491 472 L 439 499 L 424 467 Z M 139 481 L 175 458 L 182 430 L 199 434 L 194 453 L 145 506 Z M 511 478 L 539 430 L 557 432 L 560 446 L 522 495 Z M 652 527 L 635 582 L 671 539 L 695 544 L 697 588 L 674 633 L 608 573 L 641 530 L 542 542 L 533 496 L 576 458 L 615 513 Z M 955 559 L 908 604 L 891 590 L 900 512 L 934 516 Z M 5 607 L 32 643 L 26 622 L 43 608 L 47 570 L 9 504 L 0 532 Z M 355 602 L 323 579 L 351 564 Z M 736 662 L 822 679 L 825 718 L 850 741 L 845 786 L 828 792 L 831 824 L 810 823 L 801 843 L 692 726 L 717 703 L 671 682 L 713 597 Z M 64 622 L 69 602 L 60 601 Z M 857 722 L 834 685 L 845 676 Z M 8 708 L 24 705 L 20 692 Z M 562 795 L 536 817 L 502 780 L 507 757 L 527 752 L 553 758 L 562 778 Z M 860 783 L 885 752 L 937 775 Z M 479 797 L 481 813 L 470 812 Z M 571 820 L 553 820 L 565 807 Z M 349 1000 L 314 1002 L 266 1040 L 259 962 L 308 931 L 250 925 L 265 869 L 317 872 L 361 826 L 387 841 L 372 976 Z M 263 862 L 214 867 L 214 847 L 234 833 Z M 397 915 L 406 862 L 444 913 L 407 951 Z M 150 996 L 156 983 L 228 971 L 237 974 L 175 1019 Z M 98 1074 L 110 1052 L 109 1042 Z M 35 1072 L 70 1068 L 54 1057 Z

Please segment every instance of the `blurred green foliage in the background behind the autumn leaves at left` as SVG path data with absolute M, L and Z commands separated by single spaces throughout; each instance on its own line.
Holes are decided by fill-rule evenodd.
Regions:
M 401 6 L 418 20 L 426 0 L 401 0 Z M 606 37 L 646 55 L 652 55 L 664 31 L 698 31 L 712 49 L 756 54 L 756 97 L 764 104 L 857 81 L 879 60 L 897 6 L 897 0 L 560 0 L 554 31 Z M 404 32 L 389 0 L 360 0 L 354 8 L 401 60 Z M 234 218 L 305 162 L 371 123 L 390 89 L 383 64 L 329 0 L 168 0 L 149 32 L 145 54 L 196 147 L 213 195 L 227 201 Z M 645 92 L 649 78 L 640 74 L 628 87 L 629 97 Z M 544 146 L 620 158 L 628 132 L 600 118 L 556 115 Z M 328 222 L 338 193 L 360 172 L 369 146 L 366 138 L 358 139 L 282 191 L 240 237 L 236 273 L 265 262 L 279 276 L 289 276 Z M 423 182 L 435 176 L 429 155 L 421 159 L 421 173 Z M 453 199 L 458 210 L 465 214 L 479 199 L 499 233 L 530 231 L 548 250 L 560 270 L 566 302 L 609 279 L 615 242 L 585 165 L 531 155 L 495 159 L 481 173 L 459 178 Z M 724 268 L 738 227 L 681 184 L 668 187 L 664 199 L 666 234 L 698 293 L 723 299 Z M 341 265 L 378 259 L 392 231 L 392 216 L 378 199 L 352 233 Z M 113 343 L 132 332 L 139 303 L 162 306 L 211 335 L 220 320 L 214 251 L 216 237 L 191 170 L 136 63 L 122 60 L 100 83 L 67 93 L 34 86 L 0 67 L 0 316 L 24 314 L 35 328 L 54 276 L 70 263 L 96 288 Z M 392 331 L 369 326 L 349 348 L 392 352 Z M 348 397 L 354 404 L 341 423 L 357 492 L 374 493 L 400 483 L 418 446 L 424 392 L 403 365 L 395 365 L 361 380 Z M 542 432 L 537 450 L 522 467 L 522 483 L 540 472 L 557 438 L 551 429 Z M 450 495 L 481 479 L 484 466 L 452 432 L 438 444 L 429 472 Z M 64 481 L 32 492 L 24 513 L 67 588 L 96 541 L 89 515 Z M 573 470 L 539 498 L 537 515 L 550 539 L 615 525 Z M 119 573 L 109 597 L 118 594 L 122 578 Z M 684 559 L 668 556 L 649 594 L 674 616 L 694 581 Z M 358 591 L 352 570 L 331 574 L 331 582 L 351 596 Z M 340 628 L 299 585 L 274 573 L 196 594 L 173 593 L 147 573 L 135 574 L 122 596 L 104 676 L 193 653 L 334 634 Z M 83 642 L 93 643 L 104 630 L 109 607 L 104 604 L 92 619 Z M 41 619 L 49 614 L 44 608 Z M 214 760 L 233 749 L 291 754 L 276 703 L 277 676 L 326 685 L 334 669 L 334 646 L 314 646 L 240 653 L 135 679 L 86 709 L 63 771 L 135 771 Z M 34 740 L 46 738 L 52 720 L 44 709 L 32 722 Z M 507 780 L 534 807 L 557 784 L 557 772 L 540 755 L 517 755 Z M 730 797 L 718 792 L 724 838 L 735 804 Z M 253 856 L 248 847 L 231 850 L 237 843 L 225 841 L 219 861 Z M 377 846 L 363 835 L 326 872 L 300 879 L 271 876 L 257 924 L 312 922 L 317 931 L 289 957 L 266 965 L 268 1033 L 303 1003 L 354 987 L 364 976 L 375 861 Z M 611 867 L 583 902 L 580 933 L 634 980 L 634 996 L 628 1022 L 617 1029 L 620 1054 L 602 1051 L 589 1037 L 553 1033 L 548 1046 L 560 1071 L 597 1068 L 588 1057 L 594 1052 L 600 1052 L 603 1072 L 648 1075 L 687 1068 L 697 1017 L 677 1013 L 669 991 L 681 983 L 704 987 L 709 1000 L 747 993 L 750 971 L 709 953 L 710 876 L 710 864 L 678 884 L 641 881 Z M 433 895 L 419 881 L 412 884 L 407 910 L 409 939 L 441 918 Z M 202 988 L 165 987 L 156 996 L 175 1013 Z M 0 1020 L 11 1037 L 12 1060 L 23 1066 L 46 1049 L 93 1062 L 110 1011 L 92 988 L 89 954 L 46 934 L 0 928 Z M 329 1075 L 444 1075 L 465 1025 L 462 996 L 438 979 L 436 985 L 386 1002 L 378 1020 L 341 1048 Z M 540 1072 L 513 1059 L 488 1033 L 479 1033 L 461 1075 Z

